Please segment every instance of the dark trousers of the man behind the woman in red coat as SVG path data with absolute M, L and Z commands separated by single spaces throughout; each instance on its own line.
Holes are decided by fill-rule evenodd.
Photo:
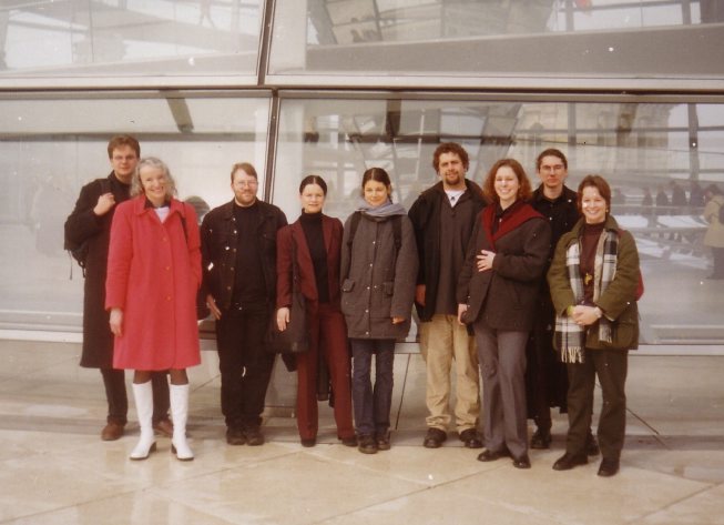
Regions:
M 103 386 L 105 386 L 105 398 L 108 400 L 109 423 L 128 423 L 129 397 L 125 393 L 125 371 L 115 368 L 101 368 Z M 169 418 L 169 380 L 165 372 L 153 372 L 151 374 L 153 387 L 153 423 Z

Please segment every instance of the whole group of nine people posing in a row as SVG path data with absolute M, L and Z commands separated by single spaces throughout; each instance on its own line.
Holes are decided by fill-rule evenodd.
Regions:
M 194 457 L 186 368 L 201 361 L 197 296 L 215 319 L 226 441 L 264 443 L 275 360 L 265 335 L 269 323 L 286 330 L 298 286 L 309 341 L 293 360 L 303 446 L 316 444 L 324 391 L 344 445 L 365 454 L 390 448 L 395 344 L 408 334 L 415 305 L 427 372 L 424 446 L 442 446 L 453 426 L 465 446 L 485 446 L 478 460 L 509 456 L 529 468 L 527 418 L 537 426 L 530 447 L 548 448 L 550 410 L 559 406 L 570 428 L 553 468 L 584 464 L 600 446 L 599 474 L 618 472 L 626 356 L 638 343 L 638 252 L 611 216 L 605 180 L 588 175 L 578 193 L 569 190 L 559 150 L 539 155 L 533 191 L 513 159 L 476 184 L 466 178 L 466 150 L 442 143 L 432 159 L 439 181 L 409 213 L 392 202 L 389 174 L 368 169 L 344 225 L 324 214 L 320 176 L 302 180 L 302 213 L 287 224 L 282 210 L 257 199 L 254 166 L 238 163 L 233 199 L 201 226 L 193 206 L 176 199 L 169 168 L 141 159 L 135 139 L 113 138 L 108 151 L 112 172 L 81 190 L 65 235 L 89 250 L 81 365 L 103 376 L 103 440 L 124 433 L 123 370 L 134 371 L 141 435 L 132 460 L 155 451 L 155 433 L 172 438 L 179 460 Z

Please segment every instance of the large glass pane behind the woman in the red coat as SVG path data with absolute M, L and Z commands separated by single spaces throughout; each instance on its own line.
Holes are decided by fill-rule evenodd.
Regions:
M 234 162 L 263 176 L 268 112 L 253 93 L 0 98 L 0 329 L 79 330 L 83 280 L 63 224 L 81 186 L 110 173 L 112 135 L 164 160 L 181 199 L 216 206 L 232 198 Z

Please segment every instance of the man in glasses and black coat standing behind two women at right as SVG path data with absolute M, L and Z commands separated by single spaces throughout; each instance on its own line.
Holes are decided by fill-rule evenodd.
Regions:
M 542 151 L 536 160 L 536 171 L 541 184 L 533 192 L 531 205 L 548 218 L 551 225 L 551 246 L 548 262 L 553 256 L 558 240 L 571 231 L 580 214 L 577 205 L 577 194 L 565 186 L 568 176 L 568 159 L 557 149 Z M 551 407 L 568 411 L 565 396 L 568 393 L 568 375 L 565 365 L 560 363 L 553 351 L 553 330 L 555 329 L 555 312 L 551 302 L 545 273 L 541 280 L 538 299 L 538 315 L 528 342 L 528 367 L 526 371 L 526 387 L 528 397 L 528 414 L 536 422 L 536 432 L 531 438 L 531 448 L 549 448 L 551 444 Z M 599 453 L 598 443 L 589 431 L 589 455 Z

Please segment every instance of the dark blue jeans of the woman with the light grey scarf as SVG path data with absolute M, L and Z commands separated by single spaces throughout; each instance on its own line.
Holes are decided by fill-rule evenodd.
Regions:
M 395 340 L 353 339 L 351 401 L 358 435 L 384 435 L 389 431 L 392 405 Z M 371 383 L 373 355 L 375 387 Z

